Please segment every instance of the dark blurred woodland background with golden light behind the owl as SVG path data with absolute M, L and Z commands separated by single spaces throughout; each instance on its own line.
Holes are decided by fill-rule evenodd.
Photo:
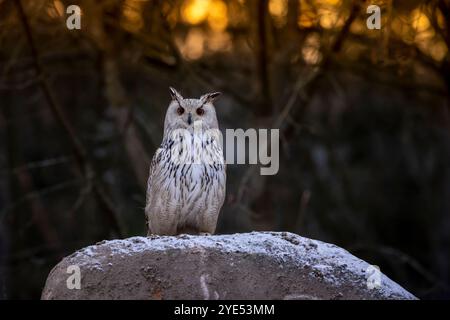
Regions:
M 222 130 L 280 129 L 277 175 L 228 166 L 218 233 L 331 242 L 449 299 L 449 47 L 449 0 L 0 0 L 0 298 L 146 234 L 174 86 L 221 91 Z

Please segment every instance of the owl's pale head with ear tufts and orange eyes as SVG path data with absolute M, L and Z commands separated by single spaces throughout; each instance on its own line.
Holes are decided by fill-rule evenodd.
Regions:
M 201 125 L 205 130 L 218 129 L 216 110 L 213 102 L 220 92 L 207 93 L 199 99 L 184 99 L 178 91 L 170 87 L 172 101 L 167 109 L 164 131 L 194 128 Z

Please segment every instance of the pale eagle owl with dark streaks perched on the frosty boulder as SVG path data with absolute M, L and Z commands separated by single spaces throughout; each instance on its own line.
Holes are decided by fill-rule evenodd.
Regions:
M 184 99 L 170 88 L 164 136 L 147 183 L 148 234 L 214 233 L 225 198 L 226 164 L 214 100 Z

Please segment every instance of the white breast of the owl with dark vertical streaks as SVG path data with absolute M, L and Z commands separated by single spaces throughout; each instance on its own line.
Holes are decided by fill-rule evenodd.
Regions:
M 186 220 L 197 212 L 218 213 L 225 196 L 226 174 L 217 139 L 195 134 L 169 136 L 155 157 L 158 161 L 152 184 L 163 195 L 155 202 Z

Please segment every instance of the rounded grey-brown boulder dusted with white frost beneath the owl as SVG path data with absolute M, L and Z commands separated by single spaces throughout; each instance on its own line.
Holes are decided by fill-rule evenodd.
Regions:
M 73 265 L 80 289 L 67 286 Z M 286 232 L 133 237 L 64 258 L 42 299 L 416 299 L 383 274 L 369 289 L 368 270 L 344 249 Z

